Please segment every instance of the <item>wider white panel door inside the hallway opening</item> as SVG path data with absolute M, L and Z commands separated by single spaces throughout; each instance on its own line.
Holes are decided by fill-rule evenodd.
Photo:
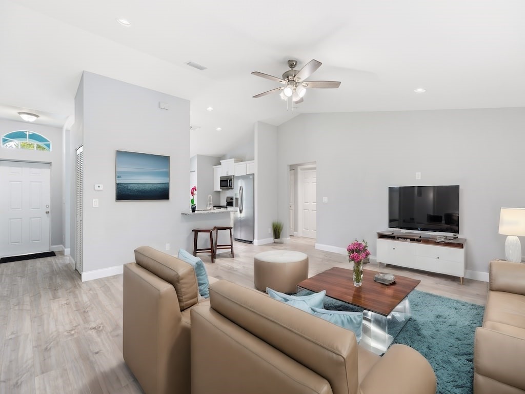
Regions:
M 298 224 L 301 236 L 316 238 L 317 236 L 317 171 L 316 169 L 301 170 L 299 183 L 301 186 Z

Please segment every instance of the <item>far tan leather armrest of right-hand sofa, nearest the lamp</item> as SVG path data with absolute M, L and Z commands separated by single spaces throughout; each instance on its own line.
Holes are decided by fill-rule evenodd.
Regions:
M 489 263 L 489 291 L 525 295 L 525 264 L 492 260 Z

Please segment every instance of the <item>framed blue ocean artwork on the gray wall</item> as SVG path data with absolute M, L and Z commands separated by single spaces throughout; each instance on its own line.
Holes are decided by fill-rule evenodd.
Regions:
M 170 157 L 115 151 L 116 200 L 169 200 Z

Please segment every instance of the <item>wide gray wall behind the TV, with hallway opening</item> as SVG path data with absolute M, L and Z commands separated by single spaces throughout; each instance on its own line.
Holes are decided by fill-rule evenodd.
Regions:
M 288 229 L 288 165 L 315 161 L 317 246 L 365 239 L 375 255 L 388 186 L 459 184 L 467 276 L 480 277 L 504 256 L 500 208 L 525 206 L 524 126 L 525 108 L 300 115 L 278 128 L 279 219 Z

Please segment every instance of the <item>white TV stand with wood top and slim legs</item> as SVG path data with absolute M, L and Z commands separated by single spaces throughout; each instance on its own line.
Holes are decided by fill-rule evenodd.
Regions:
M 464 238 L 439 239 L 435 235 L 381 231 L 377 233 L 377 262 L 458 276 L 465 276 Z

